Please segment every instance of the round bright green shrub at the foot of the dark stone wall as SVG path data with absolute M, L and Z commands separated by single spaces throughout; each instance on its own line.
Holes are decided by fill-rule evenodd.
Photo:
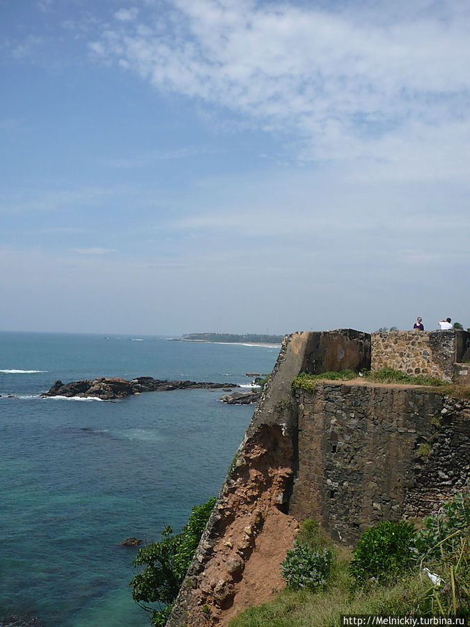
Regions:
M 403 568 L 412 564 L 413 538 L 414 525 L 404 520 L 386 520 L 367 529 L 357 543 L 350 564 L 354 579 L 358 583 L 393 581 Z

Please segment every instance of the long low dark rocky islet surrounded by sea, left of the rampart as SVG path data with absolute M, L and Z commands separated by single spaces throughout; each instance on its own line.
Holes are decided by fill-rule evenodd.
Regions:
M 141 392 L 164 392 L 173 389 L 212 389 L 221 388 L 230 385 L 230 387 L 240 387 L 236 383 L 211 383 L 207 381 L 167 381 L 154 379 L 152 377 L 137 377 L 131 381 L 121 379 L 120 377 L 100 377 L 93 380 L 83 379 L 72 381 L 71 383 L 63 383 L 56 381 L 41 396 L 79 396 L 86 398 L 93 396 L 102 398 L 103 401 L 111 401 L 114 398 L 125 398 L 132 394 L 140 394 Z

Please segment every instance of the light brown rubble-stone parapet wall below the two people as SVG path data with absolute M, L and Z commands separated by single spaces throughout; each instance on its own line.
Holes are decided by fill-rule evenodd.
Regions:
M 455 338 L 454 331 L 373 333 L 371 369 L 389 367 L 451 381 L 457 361 Z

